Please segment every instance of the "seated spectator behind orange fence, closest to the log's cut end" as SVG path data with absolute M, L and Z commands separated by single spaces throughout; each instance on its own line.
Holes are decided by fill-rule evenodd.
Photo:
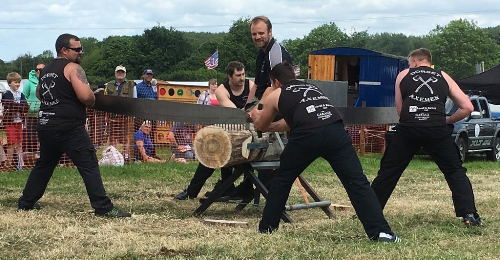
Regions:
M 192 137 L 195 132 L 193 124 L 175 123 L 168 133 L 168 139 L 172 144 L 172 153 L 177 158 L 194 159 L 194 147 Z

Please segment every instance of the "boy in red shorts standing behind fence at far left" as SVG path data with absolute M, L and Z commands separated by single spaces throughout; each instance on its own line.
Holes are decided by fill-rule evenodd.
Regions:
M 7 166 L 13 166 L 14 149 L 19 153 L 19 164 L 24 165 L 22 153 L 22 118 L 29 111 L 26 97 L 21 91 L 17 91 L 21 85 L 21 76 L 17 72 L 10 72 L 7 75 L 8 89 L 2 97 L 3 104 L 3 126 L 7 134 Z

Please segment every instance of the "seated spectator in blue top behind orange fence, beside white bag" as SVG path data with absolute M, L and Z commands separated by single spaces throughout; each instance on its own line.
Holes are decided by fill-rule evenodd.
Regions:
M 161 158 L 152 156 L 154 146 L 150 136 L 151 128 L 151 121 L 144 121 L 140 129 L 134 134 L 135 159 L 143 162 L 164 162 Z

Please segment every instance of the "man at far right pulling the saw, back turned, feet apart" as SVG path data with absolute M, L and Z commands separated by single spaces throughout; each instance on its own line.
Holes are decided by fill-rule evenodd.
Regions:
M 397 181 L 420 147 L 444 174 L 451 190 L 455 214 L 466 226 L 482 226 L 474 202 L 467 169 L 462 166 L 458 147 L 451 138 L 453 123 L 473 111 L 468 97 L 443 71 L 431 68 L 431 53 L 424 48 L 408 56 L 409 69 L 396 78 L 396 110 L 400 116 L 396 133 L 385 150 L 380 170 L 371 186 L 385 207 Z M 446 119 L 445 102 L 450 97 L 458 110 Z

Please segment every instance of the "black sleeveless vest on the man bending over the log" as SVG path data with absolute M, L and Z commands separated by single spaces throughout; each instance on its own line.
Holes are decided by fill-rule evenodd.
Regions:
M 281 86 L 278 110 L 292 130 L 312 129 L 342 119 L 318 87 L 298 80 Z

